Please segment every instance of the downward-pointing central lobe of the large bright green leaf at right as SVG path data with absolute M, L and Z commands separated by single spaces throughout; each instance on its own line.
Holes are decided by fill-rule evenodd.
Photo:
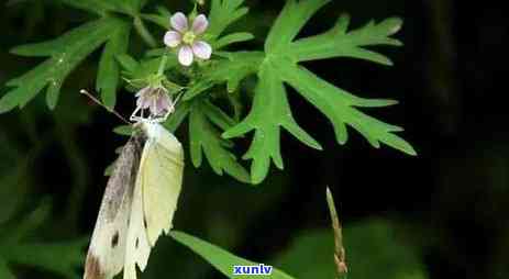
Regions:
M 251 147 L 244 155 L 244 159 L 253 159 L 251 176 L 254 183 L 262 182 L 267 176 L 270 159 L 283 169 L 279 147 L 280 127 L 286 129 L 306 145 L 322 149 L 320 144 L 295 121 L 285 87 L 274 67 L 264 64 L 258 77 L 259 82 L 250 114 L 223 134 L 224 137 L 231 138 L 255 130 Z

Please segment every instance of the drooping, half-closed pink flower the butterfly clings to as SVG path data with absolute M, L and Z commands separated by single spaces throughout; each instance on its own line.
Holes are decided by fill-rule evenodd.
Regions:
M 171 98 L 163 87 L 145 87 L 136 93 L 136 110 L 148 109 L 152 116 L 163 116 L 174 110 Z

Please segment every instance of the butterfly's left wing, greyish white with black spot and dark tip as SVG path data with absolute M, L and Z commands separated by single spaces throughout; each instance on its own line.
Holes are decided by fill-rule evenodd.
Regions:
M 85 279 L 109 279 L 122 270 L 141 147 L 132 137 L 115 161 L 88 249 Z

